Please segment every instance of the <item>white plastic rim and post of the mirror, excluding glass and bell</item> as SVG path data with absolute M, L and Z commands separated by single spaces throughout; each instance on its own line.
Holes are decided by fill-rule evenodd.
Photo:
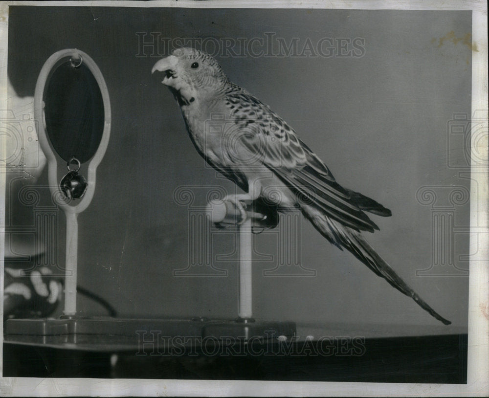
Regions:
M 54 71 L 59 65 L 64 62 L 76 62 L 79 66 L 80 63 L 85 64 L 93 74 L 100 92 L 102 94 L 102 100 L 104 103 L 104 130 L 102 133 L 102 139 L 100 145 L 95 152 L 95 155 L 89 160 L 87 182 L 88 187 L 84 196 L 79 199 L 74 199 L 71 204 L 64 196 L 59 186 L 58 178 L 58 160 L 62 160 L 56 155 L 55 150 L 49 140 L 49 136 L 46 129 L 46 121 L 44 117 L 44 91 L 46 84 L 48 83 L 51 72 Z M 95 177 L 97 166 L 100 164 L 107 145 L 109 143 L 109 136 L 111 131 L 111 104 L 109 100 L 109 91 L 105 83 L 102 72 L 95 64 L 95 62 L 83 51 L 76 48 L 68 48 L 61 51 L 57 51 L 52 54 L 44 63 L 39 77 L 36 83 L 36 90 L 34 93 L 34 116 L 38 129 L 39 142 L 43 149 L 44 155 L 48 161 L 48 179 L 49 188 L 53 194 L 53 198 L 57 199 L 58 205 L 63 209 L 66 215 L 66 262 L 65 262 L 65 308 L 64 315 L 73 316 L 76 315 L 76 284 L 77 284 L 77 262 L 78 262 L 78 214 L 83 212 L 90 204 L 93 194 L 95 192 Z M 67 132 L 68 133 L 68 132 Z

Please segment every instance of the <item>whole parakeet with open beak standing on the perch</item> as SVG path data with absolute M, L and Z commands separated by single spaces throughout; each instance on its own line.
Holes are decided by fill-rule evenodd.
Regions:
M 363 238 L 362 231 L 378 229 L 365 212 L 388 217 L 391 211 L 339 185 L 294 130 L 263 102 L 231 83 L 213 57 L 197 49 L 178 48 L 156 62 L 152 73 L 156 71 L 177 100 L 200 155 L 247 192 L 226 198 L 240 209 L 243 219 L 244 200 L 263 200 L 281 212 L 300 209 L 330 243 L 349 250 L 445 325 L 451 323 Z

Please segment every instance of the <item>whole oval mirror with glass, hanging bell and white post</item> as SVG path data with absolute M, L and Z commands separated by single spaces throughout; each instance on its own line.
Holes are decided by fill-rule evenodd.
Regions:
M 38 136 L 50 190 L 67 216 L 64 314 L 71 316 L 76 313 L 77 215 L 93 197 L 111 129 L 109 92 L 88 54 L 64 49 L 47 59 L 36 84 L 34 113 L 42 121 Z

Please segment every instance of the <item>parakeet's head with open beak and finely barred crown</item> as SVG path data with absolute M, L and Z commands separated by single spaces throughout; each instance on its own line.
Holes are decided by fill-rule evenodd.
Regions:
M 221 66 L 210 55 L 194 48 L 177 48 L 169 57 L 156 62 L 151 73 L 163 74 L 163 83 L 180 106 L 212 98 L 228 83 Z

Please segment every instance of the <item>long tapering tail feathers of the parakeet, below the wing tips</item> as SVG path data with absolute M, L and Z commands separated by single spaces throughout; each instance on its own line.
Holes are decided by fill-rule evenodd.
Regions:
M 411 287 L 409 287 L 401 277 L 388 265 L 373 249 L 373 247 L 363 238 L 361 233 L 351 228 L 345 227 L 338 222 L 329 219 L 313 208 L 303 208 L 304 215 L 312 222 L 314 227 L 328 241 L 339 248 L 346 248 L 358 260 L 367 265 L 378 276 L 384 278 L 389 284 L 398 289 L 401 293 L 411 297 L 423 310 L 430 315 L 450 325 L 451 322 L 443 318 L 433 310 Z

